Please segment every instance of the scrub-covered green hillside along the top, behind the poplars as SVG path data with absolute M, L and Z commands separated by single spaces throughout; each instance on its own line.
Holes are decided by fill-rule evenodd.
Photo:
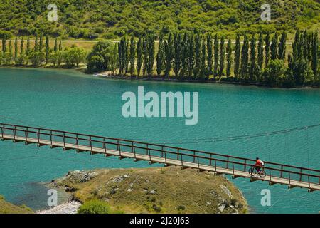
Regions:
M 47 19 L 48 4 L 58 21 Z M 260 19 L 264 0 L 2 0 L 0 28 L 14 36 L 48 33 L 61 38 L 117 38 L 144 31 L 234 34 L 319 28 L 316 0 L 269 0 L 272 21 Z

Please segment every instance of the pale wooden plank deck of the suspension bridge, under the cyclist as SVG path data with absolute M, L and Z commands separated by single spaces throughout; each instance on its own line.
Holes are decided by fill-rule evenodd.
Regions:
M 1 127 L 0 127 L 1 128 Z M 7 129 L 7 128 L 6 128 Z M 34 134 L 38 134 L 37 138 L 31 138 L 31 137 L 27 137 L 25 136 L 21 136 L 21 135 L 16 135 L 15 132 L 13 135 L 11 134 L 4 134 L 4 129 L 1 129 L 2 133 L 0 135 L 1 140 L 13 140 L 14 142 L 26 142 L 26 144 L 29 143 L 36 143 L 38 144 L 38 146 L 42 146 L 42 145 L 48 145 L 51 148 L 53 147 L 62 147 L 63 150 L 77 150 L 77 152 L 91 152 L 92 155 L 95 154 L 102 154 L 105 155 L 105 157 L 109 157 L 109 156 L 118 156 L 119 159 L 122 158 L 132 158 L 134 159 L 134 161 L 139 161 L 139 160 L 145 160 L 145 161 L 149 161 L 150 164 L 152 163 L 162 163 L 165 166 L 169 166 L 169 165 L 178 165 L 181 166 L 182 169 L 184 168 L 194 168 L 197 169 L 199 172 L 202 171 L 210 171 L 210 172 L 215 172 L 216 174 L 226 174 L 226 175 L 232 175 L 233 178 L 237 178 L 237 177 L 245 177 L 245 178 L 250 178 L 250 180 L 253 181 L 265 181 L 265 182 L 269 182 L 270 185 L 274 185 L 274 184 L 281 184 L 281 185 L 288 185 L 289 188 L 292 187 L 302 187 L 302 188 L 306 188 L 309 190 L 309 192 L 315 191 L 315 190 L 320 190 L 320 176 L 317 175 L 310 175 L 306 174 L 306 173 L 302 173 L 302 172 L 291 172 L 288 170 L 278 170 L 281 171 L 281 176 L 280 177 L 276 177 L 274 175 L 267 175 L 266 177 L 251 177 L 250 174 L 247 172 L 246 170 L 246 166 L 247 167 L 252 167 L 252 165 L 249 165 L 247 163 L 242 164 L 245 165 L 244 170 L 238 170 L 235 169 L 235 165 L 238 165 L 240 163 L 238 162 L 232 162 L 229 161 L 229 157 L 228 160 L 225 160 L 224 162 L 226 162 L 227 167 L 220 167 L 218 165 L 216 165 L 216 161 L 220 161 L 220 160 L 214 160 L 211 155 L 210 155 L 210 159 L 214 160 L 215 165 L 205 165 L 205 164 L 201 164 L 201 162 L 195 162 L 195 159 L 193 157 L 193 162 L 189 161 L 189 160 L 183 160 L 182 159 L 182 155 L 181 155 L 181 160 L 179 159 L 174 159 L 173 157 L 167 157 L 166 156 L 166 152 L 164 152 L 164 156 L 161 155 L 161 157 L 158 156 L 153 156 L 151 155 L 151 153 L 147 152 L 146 155 L 142 154 L 142 153 L 138 153 L 138 152 L 133 152 L 135 149 L 135 146 L 133 147 L 134 143 L 132 143 L 132 150 L 131 152 L 126 152 L 126 151 L 122 151 L 122 150 L 110 150 L 107 149 L 104 145 L 104 147 L 95 147 L 92 146 L 92 142 L 91 142 L 91 136 L 90 136 L 90 145 L 80 145 L 78 142 L 78 134 L 77 134 L 77 142 L 78 143 L 70 143 L 70 142 L 65 142 L 65 133 L 63 133 L 63 142 L 59 142 L 59 141 L 55 141 L 52 140 L 52 130 L 50 130 L 50 139 L 51 140 L 45 140 L 45 139 L 41 139 L 40 138 L 40 130 L 39 132 L 31 132 Z M 16 130 L 16 128 L 14 129 Z M 25 132 L 26 133 L 26 132 Z M 48 135 L 48 134 L 47 134 Z M 57 136 L 57 135 L 55 135 Z M 82 139 L 83 140 L 83 139 Z M 107 143 L 107 142 L 103 142 L 103 143 Z M 119 140 L 118 140 L 118 144 L 119 144 Z M 123 146 L 123 145 L 122 145 Z M 127 145 L 126 145 L 127 146 Z M 119 145 L 118 145 L 118 148 Z M 152 150 L 152 149 L 147 149 L 148 150 Z M 178 154 L 179 155 L 179 154 Z M 199 158 L 198 158 L 199 159 Z M 211 160 L 210 160 L 210 164 Z M 229 164 L 232 165 L 232 168 L 229 167 Z M 300 168 L 300 170 L 302 170 L 303 168 Z M 267 168 L 268 170 L 268 168 Z M 266 173 L 268 174 L 268 171 L 266 170 Z M 269 173 L 271 174 L 272 170 L 277 170 L 274 168 L 269 168 Z M 308 170 L 308 169 L 306 169 Z M 319 171 L 319 170 L 311 170 L 311 171 Z M 274 171 L 272 171 L 274 172 Z M 285 178 L 282 177 L 282 173 L 283 172 L 288 172 L 289 173 L 289 178 Z M 290 178 L 290 173 L 292 173 L 293 175 L 300 175 L 299 180 L 294 180 L 292 178 Z M 320 172 L 319 172 L 320 173 Z M 306 175 L 307 180 L 308 181 L 302 181 L 302 176 Z M 310 178 L 318 178 L 318 182 L 311 182 Z

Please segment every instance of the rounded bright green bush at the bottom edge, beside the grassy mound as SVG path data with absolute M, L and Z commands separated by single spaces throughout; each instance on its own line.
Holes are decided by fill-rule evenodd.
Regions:
M 112 213 L 109 205 L 97 199 L 82 204 L 78 209 L 78 214 L 110 214 Z

